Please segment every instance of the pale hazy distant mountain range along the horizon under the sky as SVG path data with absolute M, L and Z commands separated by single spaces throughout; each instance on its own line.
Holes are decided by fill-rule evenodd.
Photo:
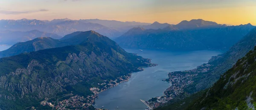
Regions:
M 182 21 L 174 26 L 171 30 L 180 29 L 195 29 L 208 27 L 224 27 L 225 25 L 218 25 L 215 22 L 204 21 L 202 19 L 192 19 L 191 21 Z M 143 27 L 145 29 L 163 29 L 169 27 L 168 23 L 143 23 L 143 22 L 120 22 L 115 20 L 101 20 L 101 19 L 53 19 L 37 20 L 37 19 L 19 19 L 19 20 L 0 20 L 0 31 L 30 31 L 39 30 L 47 33 L 55 33 L 59 36 L 64 36 L 76 31 L 94 30 L 102 35 L 114 38 L 121 36 L 133 27 Z

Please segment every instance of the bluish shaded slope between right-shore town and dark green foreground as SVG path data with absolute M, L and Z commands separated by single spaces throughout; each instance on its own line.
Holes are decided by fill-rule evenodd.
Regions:
M 205 77 L 198 81 L 196 88 L 198 90 L 209 88 L 218 80 L 219 76 L 230 69 L 239 58 L 242 58 L 247 52 L 253 50 L 255 45 L 256 28 L 251 30 L 238 43 L 231 47 L 229 51 L 210 59 L 209 64 L 212 66 L 207 67 L 209 68 L 209 71 L 203 72 Z M 205 66 L 200 68 L 205 68 Z

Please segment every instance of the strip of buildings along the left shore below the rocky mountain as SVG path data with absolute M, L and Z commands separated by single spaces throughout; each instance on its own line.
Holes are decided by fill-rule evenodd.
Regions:
M 148 59 L 148 60 L 150 60 L 150 62 L 151 62 L 151 59 Z M 153 67 L 153 66 L 157 66 L 157 64 L 148 63 L 148 66 L 138 67 L 135 71 L 133 71 L 129 74 L 117 77 L 114 80 L 104 80 L 105 82 L 103 82 L 101 84 L 98 83 L 98 85 L 100 85 L 100 87 L 103 86 L 103 88 L 96 88 L 96 87 L 90 88 L 90 91 L 92 91 L 93 94 L 89 95 L 87 97 L 83 97 L 83 96 L 79 96 L 79 95 L 74 96 L 74 94 L 71 93 L 70 98 L 66 98 L 62 101 L 56 101 L 54 103 L 44 101 L 43 103 L 41 102 L 41 105 L 43 105 L 43 106 L 47 105 L 52 108 L 54 107 L 55 109 L 58 109 L 58 110 L 65 110 L 66 106 L 68 106 L 68 107 L 73 106 L 73 107 L 83 108 L 83 109 L 95 108 L 93 105 L 95 105 L 95 99 L 98 98 L 99 93 L 107 91 L 108 89 L 113 88 L 122 82 L 129 81 L 132 73 L 144 71 L 144 68 Z M 84 102 L 86 102 L 86 103 L 84 103 Z M 95 109 L 102 110 L 100 108 L 95 108 Z

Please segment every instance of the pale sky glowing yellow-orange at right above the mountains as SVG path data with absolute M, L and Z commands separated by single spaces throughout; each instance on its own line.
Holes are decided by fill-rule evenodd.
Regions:
M 0 19 L 23 18 L 256 25 L 256 0 L 0 0 Z

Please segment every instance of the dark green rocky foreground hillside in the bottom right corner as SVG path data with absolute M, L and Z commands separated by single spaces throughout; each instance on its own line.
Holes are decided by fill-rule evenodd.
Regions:
M 256 48 L 239 59 L 188 110 L 254 110 L 256 108 Z

